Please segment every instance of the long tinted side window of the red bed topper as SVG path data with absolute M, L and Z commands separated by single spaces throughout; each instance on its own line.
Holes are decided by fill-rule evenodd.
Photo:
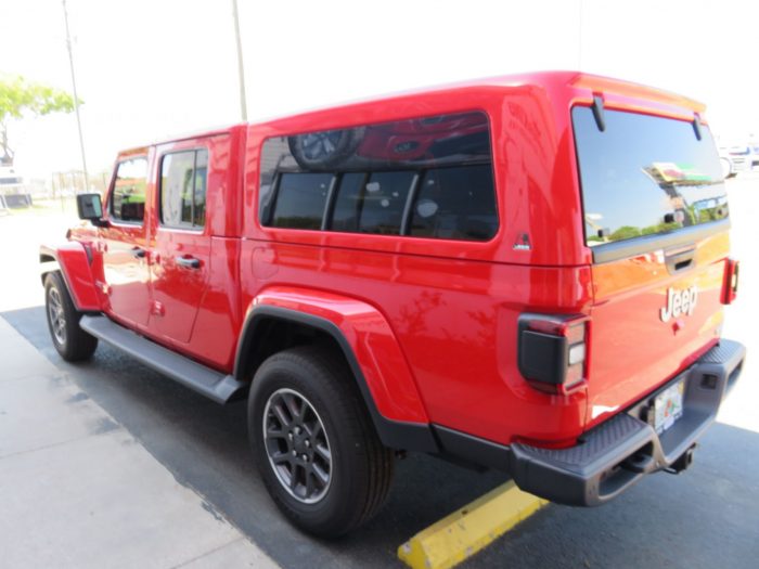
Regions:
M 498 231 L 479 112 L 268 139 L 259 191 L 269 227 L 468 241 Z

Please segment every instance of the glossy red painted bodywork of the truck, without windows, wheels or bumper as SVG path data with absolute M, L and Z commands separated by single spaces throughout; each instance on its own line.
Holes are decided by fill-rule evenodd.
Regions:
M 125 261 L 123 272 L 131 271 L 131 281 L 121 275 L 118 290 L 107 283 L 102 310 L 220 371 L 234 367 L 248 310 L 288 308 L 327 319 L 343 332 L 386 418 L 435 423 L 500 443 L 520 438 L 571 443 L 716 341 L 728 253 L 724 235 L 698 244 L 698 271 L 677 280 L 655 257 L 593 264 L 584 243 L 570 109 L 591 104 L 595 95 L 608 108 L 666 117 L 691 119 L 704 111 L 670 93 L 563 72 L 240 125 L 123 153 L 120 158 L 150 159 L 151 205 L 143 228 L 112 227 L 74 238 L 95 245 L 91 283 L 108 281 L 103 262 L 105 273 L 116 270 L 119 247 L 149 249 L 144 268 Z M 426 152 L 432 141 L 420 117 L 473 111 L 487 115 L 491 133 L 499 230 L 490 241 L 260 224 L 261 145 L 268 138 L 404 121 L 393 144 L 364 140 L 358 154 L 382 158 L 394 144 L 413 141 L 411 156 Z M 456 128 L 481 131 L 475 124 Z M 206 225 L 192 234 L 167 231 L 158 223 L 160 156 L 194 147 L 209 152 Z M 515 247 L 524 235 L 528 249 Z M 185 254 L 201 258 L 202 274 L 189 277 L 171 264 Z M 699 305 L 678 332 L 682 341 L 668 349 L 671 325 L 656 319 L 662 292 L 693 283 L 702 290 Z M 590 318 L 589 377 L 571 395 L 538 391 L 519 373 L 517 320 L 524 312 Z M 653 348 L 635 350 L 640 341 Z

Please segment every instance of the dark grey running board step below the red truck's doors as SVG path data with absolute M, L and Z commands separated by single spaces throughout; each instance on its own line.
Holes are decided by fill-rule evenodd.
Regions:
M 95 338 L 111 344 L 156 372 L 217 403 L 227 403 L 235 396 L 242 395 L 246 387 L 246 384 L 237 382 L 231 375 L 219 373 L 158 346 L 106 316 L 81 316 L 79 326 Z

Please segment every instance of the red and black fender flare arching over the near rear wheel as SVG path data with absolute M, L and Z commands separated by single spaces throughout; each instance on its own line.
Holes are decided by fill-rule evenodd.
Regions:
M 272 319 L 316 328 L 335 340 L 383 444 L 409 451 L 439 451 L 406 358 L 380 311 L 360 300 L 333 294 L 270 288 L 256 297 L 245 316 L 234 363 L 237 380 L 245 380 L 242 376 L 246 358 L 255 346 L 260 323 Z

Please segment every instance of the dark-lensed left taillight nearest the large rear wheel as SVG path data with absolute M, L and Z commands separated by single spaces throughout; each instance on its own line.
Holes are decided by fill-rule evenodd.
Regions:
M 586 315 L 522 314 L 518 366 L 527 382 L 549 393 L 567 395 L 588 378 Z

